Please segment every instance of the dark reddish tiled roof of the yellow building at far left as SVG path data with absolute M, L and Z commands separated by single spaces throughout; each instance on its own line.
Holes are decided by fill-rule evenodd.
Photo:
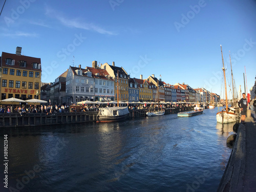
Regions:
M 1 60 L 2 61 L 1 66 L 2 67 L 11 67 L 11 68 L 24 69 L 24 70 L 41 71 L 41 68 L 40 69 L 34 69 L 32 67 L 32 63 L 34 63 L 34 62 L 41 64 L 41 59 L 40 58 L 2 52 L 1 59 L 2 59 Z M 14 60 L 14 65 L 6 65 L 6 62 L 5 62 L 6 59 L 13 59 Z M 18 61 L 26 61 L 27 62 L 26 67 L 19 67 Z

